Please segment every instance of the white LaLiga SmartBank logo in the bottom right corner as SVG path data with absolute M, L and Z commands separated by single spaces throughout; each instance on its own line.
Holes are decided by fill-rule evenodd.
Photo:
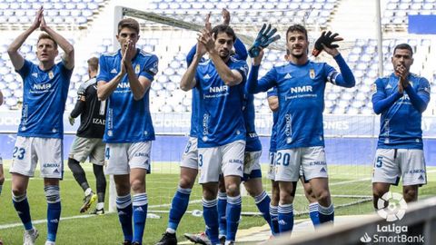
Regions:
M 385 207 L 385 201 L 388 201 L 388 206 Z M 361 237 L 361 241 L 364 243 L 372 242 L 374 243 L 416 243 L 416 242 L 424 242 L 423 235 L 408 235 L 408 227 L 396 225 L 394 221 L 401 220 L 406 214 L 407 203 L 402 198 L 400 193 L 395 192 L 387 192 L 385 193 L 381 199 L 377 202 L 377 213 L 381 216 L 381 218 L 385 219 L 388 222 L 387 225 L 377 224 L 377 232 L 372 236 L 367 232 Z

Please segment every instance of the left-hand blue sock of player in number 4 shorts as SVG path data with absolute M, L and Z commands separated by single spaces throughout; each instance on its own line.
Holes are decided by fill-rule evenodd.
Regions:
M 118 211 L 118 220 L 120 220 L 124 240 L 132 241 L 134 239 L 134 229 L 132 227 L 133 210 L 130 194 L 116 197 L 116 210 Z

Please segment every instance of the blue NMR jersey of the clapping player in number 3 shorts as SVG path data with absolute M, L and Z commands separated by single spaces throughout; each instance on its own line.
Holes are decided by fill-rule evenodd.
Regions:
M 243 75 L 243 83 L 226 85 L 212 60 L 198 64 L 195 80 L 199 90 L 198 147 L 216 147 L 245 141 L 243 95 L 248 66 L 231 57 L 227 65 Z

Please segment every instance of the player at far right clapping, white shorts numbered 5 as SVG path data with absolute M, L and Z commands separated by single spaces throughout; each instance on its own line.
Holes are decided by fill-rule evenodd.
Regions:
M 430 83 L 410 73 L 413 51 L 409 44 L 395 46 L 391 62 L 393 73 L 372 84 L 372 108 L 374 113 L 381 114 L 372 173 L 376 210 L 388 205 L 388 201 L 384 205 L 378 205 L 378 201 L 400 178 L 407 202 L 417 201 L 418 187 L 427 183 L 421 117 L 430 102 Z

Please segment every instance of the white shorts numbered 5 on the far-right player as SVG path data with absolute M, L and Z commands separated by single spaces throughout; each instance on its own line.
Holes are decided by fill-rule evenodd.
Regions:
M 417 149 L 377 149 L 372 171 L 372 182 L 397 185 L 427 183 L 424 152 Z

